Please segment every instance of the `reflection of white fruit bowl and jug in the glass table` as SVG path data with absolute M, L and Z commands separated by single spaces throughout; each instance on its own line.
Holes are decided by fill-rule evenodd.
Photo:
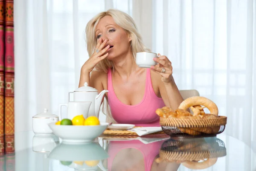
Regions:
M 108 158 L 108 153 L 96 142 L 82 145 L 61 143 L 51 151 L 48 157 L 60 160 L 62 165 L 68 165 L 77 170 L 97 170 L 98 167 L 102 171 L 107 170 L 103 167 L 102 160 Z M 76 163 L 76 161 L 81 163 Z M 95 166 L 89 166 L 84 161 L 98 161 L 99 163 L 96 162 Z

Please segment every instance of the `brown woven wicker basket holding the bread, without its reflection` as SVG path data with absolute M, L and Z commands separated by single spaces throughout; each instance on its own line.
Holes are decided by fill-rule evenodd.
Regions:
M 207 119 L 177 119 L 160 117 L 160 125 L 169 136 L 205 137 L 222 133 L 227 124 L 226 116 Z

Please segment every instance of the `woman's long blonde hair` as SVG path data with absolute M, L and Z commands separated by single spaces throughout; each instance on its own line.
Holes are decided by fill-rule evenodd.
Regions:
M 86 25 L 85 33 L 86 33 L 86 43 L 87 43 L 87 52 L 89 56 L 93 55 L 96 50 L 97 38 L 95 36 L 95 28 L 99 23 L 99 20 L 105 16 L 113 17 L 115 23 L 120 26 L 125 32 L 131 37 L 131 51 L 133 55 L 134 61 L 136 61 L 136 53 L 137 52 L 151 52 L 142 42 L 141 35 L 137 30 L 137 26 L 128 14 L 125 12 L 119 11 L 117 9 L 109 9 L 106 12 L 101 12 L 93 17 Z M 107 72 L 109 68 L 113 68 L 112 61 L 105 58 L 100 61 L 95 69 L 98 71 Z

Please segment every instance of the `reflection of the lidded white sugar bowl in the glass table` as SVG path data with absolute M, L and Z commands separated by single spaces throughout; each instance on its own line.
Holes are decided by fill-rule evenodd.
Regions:
M 32 150 L 40 153 L 49 153 L 59 144 L 57 136 L 33 136 Z

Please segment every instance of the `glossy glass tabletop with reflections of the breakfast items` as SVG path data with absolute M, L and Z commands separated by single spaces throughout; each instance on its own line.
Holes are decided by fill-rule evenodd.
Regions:
M 256 153 L 224 133 L 216 137 L 98 137 L 84 145 L 57 136 L 15 133 L 15 153 L 0 171 L 256 171 Z

